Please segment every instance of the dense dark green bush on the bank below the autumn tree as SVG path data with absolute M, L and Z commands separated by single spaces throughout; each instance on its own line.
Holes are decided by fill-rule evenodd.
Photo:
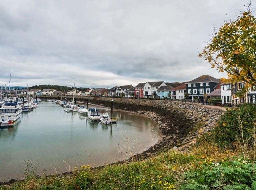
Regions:
M 218 125 L 211 130 L 211 132 L 205 133 L 199 137 L 197 142 L 202 144 L 205 142 L 213 142 L 219 147 L 235 147 L 236 140 L 242 142 L 240 124 L 243 126 L 244 139 L 250 139 L 250 137 L 253 136 L 252 132 L 255 122 L 256 104 L 246 103 L 231 110 L 227 109 L 226 112 L 221 116 Z M 250 144 L 249 141 L 248 143 Z

